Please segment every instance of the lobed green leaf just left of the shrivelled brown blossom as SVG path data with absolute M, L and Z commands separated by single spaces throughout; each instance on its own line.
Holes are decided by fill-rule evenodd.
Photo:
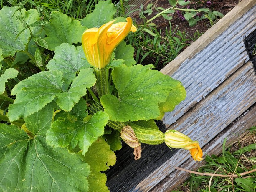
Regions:
M 87 117 L 87 106 L 85 100 L 80 100 L 70 112 L 62 112 L 56 121 L 52 123 L 52 128 L 47 131 L 46 141 L 52 147 L 67 147 L 74 149 L 78 144 L 82 149 L 82 155 L 97 138 L 104 133 L 104 126 L 108 122 L 108 115 L 99 111 L 89 120 Z M 56 119 L 56 117 L 55 117 Z

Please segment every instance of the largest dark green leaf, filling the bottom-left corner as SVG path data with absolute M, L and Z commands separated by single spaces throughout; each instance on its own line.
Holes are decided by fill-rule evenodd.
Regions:
M 0 125 L 1 190 L 88 191 L 88 164 L 45 142 L 52 114 L 53 105 L 49 104 L 25 119 L 34 138 L 15 125 Z

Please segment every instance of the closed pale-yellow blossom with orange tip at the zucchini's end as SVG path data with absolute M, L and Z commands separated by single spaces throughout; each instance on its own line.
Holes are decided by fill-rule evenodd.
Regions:
M 188 136 L 176 130 L 167 130 L 164 134 L 164 142 L 168 147 L 176 149 L 187 149 L 190 151 L 191 156 L 196 161 L 203 160 L 203 152 L 199 146 L 198 141 L 191 140 Z

